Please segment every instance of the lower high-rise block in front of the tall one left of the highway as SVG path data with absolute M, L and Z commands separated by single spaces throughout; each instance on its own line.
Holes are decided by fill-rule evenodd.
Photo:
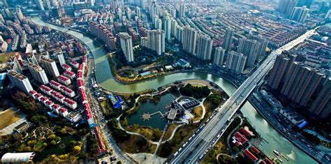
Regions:
M 247 57 L 245 57 L 244 54 L 230 51 L 226 58 L 226 68 L 235 73 L 242 73 L 244 71 L 246 59 Z

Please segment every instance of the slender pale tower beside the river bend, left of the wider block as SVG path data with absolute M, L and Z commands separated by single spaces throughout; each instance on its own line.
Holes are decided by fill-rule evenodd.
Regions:
M 128 33 L 119 33 L 121 48 L 128 62 L 133 62 L 132 38 Z

